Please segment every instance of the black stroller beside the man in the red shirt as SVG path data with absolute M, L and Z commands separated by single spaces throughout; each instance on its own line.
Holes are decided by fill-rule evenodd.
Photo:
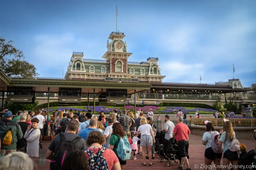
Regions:
M 178 163 L 176 162 L 177 159 L 180 161 L 181 165 L 178 142 L 173 137 L 161 145 L 156 153 L 159 155 L 158 162 L 163 162 L 164 159 L 166 159 L 166 166 L 173 164 L 171 160 L 174 160 L 175 164 Z

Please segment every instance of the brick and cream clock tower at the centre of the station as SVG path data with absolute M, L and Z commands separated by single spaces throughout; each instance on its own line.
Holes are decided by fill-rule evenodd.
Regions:
M 124 33 L 112 32 L 107 41 L 107 52 L 102 56 L 109 62 L 109 72 L 122 76 L 128 75 L 127 59 L 132 53 L 127 53 L 126 42 L 123 41 Z

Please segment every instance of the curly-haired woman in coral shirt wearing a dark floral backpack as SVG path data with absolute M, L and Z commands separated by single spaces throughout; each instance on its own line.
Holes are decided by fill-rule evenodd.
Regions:
M 86 145 L 90 146 L 84 150 L 88 158 L 90 170 L 121 170 L 118 158 L 110 149 L 102 147 L 105 138 L 98 130 L 93 130 L 86 138 Z

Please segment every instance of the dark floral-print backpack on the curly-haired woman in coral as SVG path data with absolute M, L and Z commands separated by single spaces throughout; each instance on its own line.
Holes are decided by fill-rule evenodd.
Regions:
M 109 170 L 106 159 L 103 156 L 103 152 L 106 148 L 99 148 L 98 153 L 93 153 L 90 149 L 85 149 L 84 152 L 90 155 L 88 158 L 88 168 L 91 170 Z

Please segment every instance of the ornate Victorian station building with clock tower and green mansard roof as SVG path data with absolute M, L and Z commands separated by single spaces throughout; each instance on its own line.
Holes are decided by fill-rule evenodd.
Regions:
M 95 81 L 138 81 L 161 83 L 165 76 L 161 75 L 158 57 L 149 57 L 147 61 L 132 62 L 128 58 L 124 33 L 112 32 L 107 41 L 107 52 L 103 59 L 83 58 L 83 52 L 73 52 L 68 64 L 66 79 Z

